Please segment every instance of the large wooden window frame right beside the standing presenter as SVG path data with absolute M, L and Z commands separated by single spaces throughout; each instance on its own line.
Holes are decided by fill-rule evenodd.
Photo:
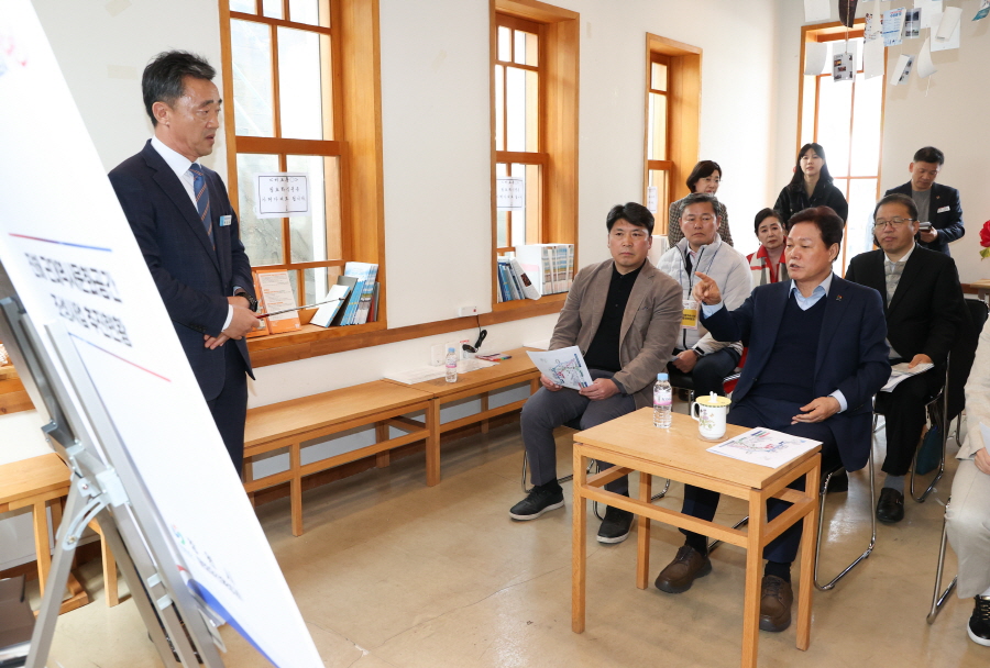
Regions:
M 257 14 L 230 11 L 227 0 L 220 2 L 220 41 L 223 53 L 223 97 L 229 100 L 223 105 L 224 135 L 227 138 L 227 167 L 230 199 L 239 207 L 238 154 L 278 155 L 278 168 L 285 170 L 286 155 L 310 155 L 338 157 L 340 159 L 340 245 L 341 258 L 306 263 L 258 265 L 265 269 L 289 269 L 297 271 L 299 294 L 304 296 L 302 269 L 318 267 L 343 267 L 348 261 L 364 261 L 378 265 L 380 313 L 376 322 L 323 330 L 316 325 L 305 325 L 301 332 L 268 335 L 249 341 L 249 348 L 264 349 L 268 344 L 293 345 L 311 337 L 336 338 L 355 336 L 362 333 L 387 329 L 387 290 L 385 282 L 385 219 L 382 166 L 382 102 L 381 60 L 378 36 L 378 0 L 330 0 L 330 27 L 296 23 L 284 19 L 263 16 L 261 0 Z M 288 0 L 283 0 L 283 15 L 289 16 Z M 273 34 L 277 27 L 306 30 L 330 37 L 330 80 L 323 81 L 323 99 L 332 100 L 330 119 L 324 113 L 324 136 L 332 140 L 287 140 L 277 136 L 279 97 L 277 86 L 277 48 L 273 42 L 273 101 L 275 114 L 275 137 L 237 136 L 234 122 L 233 63 L 231 49 L 231 20 L 244 20 L 271 26 Z M 328 90 L 329 88 L 329 90 Z M 333 94 L 330 94 L 330 90 Z M 373 113 L 367 113 L 367 110 Z M 328 218 L 337 212 L 328 211 Z M 283 220 L 283 248 L 287 249 L 289 234 L 288 219 Z M 356 225 L 360 221 L 360 234 Z M 308 323 L 315 310 L 300 312 L 300 320 Z M 264 343 L 277 337 L 275 342 Z

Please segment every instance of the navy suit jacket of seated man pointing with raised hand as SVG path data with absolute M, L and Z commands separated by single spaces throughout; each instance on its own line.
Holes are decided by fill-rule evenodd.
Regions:
M 702 321 L 718 341 L 741 341 L 749 347 L 743 375 L 733 392 L 740 403 L 759 380 L 770 361 L 777 332 L 791 294 L 791 281 L 759 286 L 735 311 L 719 309 Z M 832 277 L 825 302 L 825 315 L 818 334 L 814 393 L 827 397 L 842 390 L 847 409 L 827 424 L 835 435 L 846 470 L 866 466 L 870 453 L 870 401 L 890 378 L 889 348 L 884 338 L 883 302 L 872 288 L 865 288 L 838 276 Z M 778 416 L 790 423 L 790 414 Z

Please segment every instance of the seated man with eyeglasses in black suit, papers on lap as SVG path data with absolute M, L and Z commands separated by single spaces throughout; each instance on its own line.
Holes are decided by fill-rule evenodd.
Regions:
M 879 250 L 853 258 L 846 280 L 873 288 L 883 298 L 890 361 L 934 368 L 877 394 L 877 411 L 887 422 L 887 474 L 877 519 L 893 524 L 904 517 L 904 476 L 925 425 L 925 402 L 945 382 L 945 364 L 963 322 L 966 304 L 952 257 L 915 244 L 919 213 L 914 200 L 888 194 L 873 212 Z

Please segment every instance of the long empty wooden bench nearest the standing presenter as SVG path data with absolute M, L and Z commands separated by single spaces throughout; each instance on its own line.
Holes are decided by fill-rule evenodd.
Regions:
M 349 461 L 377 455 L 377 465 L 388 465 L 388 450 L 409 443 L 426 439 L 433 432 L 430 412 L 431 396 L 409 386 L 375 380 L 349 388 L 322 392 L 250 409 L 244 432 L 244 489 L 253 493 L 279 485 L 289 483 L 293 515 L 293 535 L 302 535 L 302 477 Z M 426 412 L 426 422 L 404 417 L 407 413 Z M 375 443 L 349 453 L 302 465 L 302 443 L 339 434 L 355 427 L 375 425 Z M 388 427 L 406 432 L 388 437 Z M 274 450 L 288 448 L 289 468 L 263 478 L 254 478 L 252 458 Z M 427 485 L 436 485 L 429 476 L 440 470 L 433 461 L 439 448 L 427 447 Z

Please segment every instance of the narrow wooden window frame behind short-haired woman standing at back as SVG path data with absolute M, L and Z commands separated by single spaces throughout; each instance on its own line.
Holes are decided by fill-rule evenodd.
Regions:
M 644 170 L 642 201 L 648 199 L 650 171 L 667 171 L 670 202 L 688 196 L 688 175 L 697 163 L 701 129 L 702 49 L 668 37 L 646 35 L 646 94 L 644 96 Z M 667 159 L 649 159 L 651 65 L 662 58 L 667 63 Z M 668 202 L 668 204 L 670 204 Z M 667 234 L 668 212 L 654 214 L 654 234 Z

